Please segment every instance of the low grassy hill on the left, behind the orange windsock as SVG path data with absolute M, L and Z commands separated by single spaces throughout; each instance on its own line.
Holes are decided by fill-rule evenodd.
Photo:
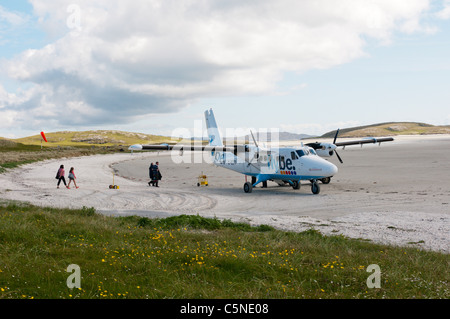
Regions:
M 130 133 L 115 130 L 97 130 L 97 131 L 62 131 L 55 133 L 45 133 L 48 143 L 44 146 L 117 146 L 132 144 L 152 144 L 152 143 L 177 143 L 180 139 L 166 136 Z M 41 145 L 42 137 L 40 134 L 13 139 L 12 142 L 27 145 Z

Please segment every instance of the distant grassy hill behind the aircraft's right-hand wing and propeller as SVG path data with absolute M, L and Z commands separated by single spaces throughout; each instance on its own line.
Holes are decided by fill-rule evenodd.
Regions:
M 417 122 L 388 122 L 341 129 L 339 137 L 450 134 L 450 125 L 435 126 Z M 334 138 L 336 130 L 321 137 Z

